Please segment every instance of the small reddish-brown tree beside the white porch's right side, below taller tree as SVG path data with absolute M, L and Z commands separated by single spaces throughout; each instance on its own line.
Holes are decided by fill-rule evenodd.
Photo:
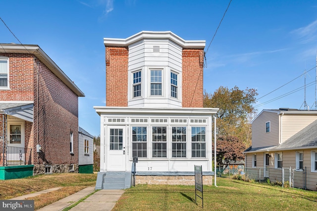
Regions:
M 246 145 L 237 137 L 218 137 L 216 146 L 217 165 L 220 168 L 225 168 L 233 161 L 243 160 L 244 155 L 242 152 L 245 151 L 245 149 Z

